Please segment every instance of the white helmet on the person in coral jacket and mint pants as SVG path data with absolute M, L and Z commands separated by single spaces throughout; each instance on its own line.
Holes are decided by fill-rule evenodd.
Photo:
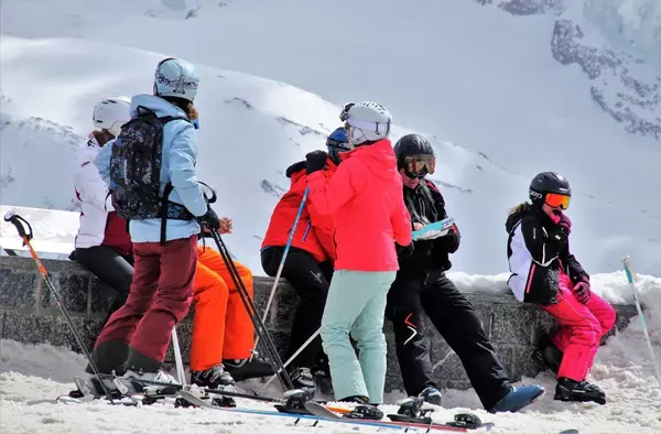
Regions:
M 365 142 L 376 142 L 390 135 L 392 116 L 380 104 L 370 101 L 349 104 L 343 109 L 340 118 L 345 118 L 343 120 L 349 126 L 347 138 L 354 147 Z

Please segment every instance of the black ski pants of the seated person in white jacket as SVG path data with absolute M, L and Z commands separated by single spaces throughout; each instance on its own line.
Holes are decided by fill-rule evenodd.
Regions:
M 133 280 L 133 257 L 121 254 L 108 246 L 94 246 L 76 249 L 74 258 L 115 292 L 110 310 L 104 319 L 105 325 L 110 315 L 123 306 L 129 296 Z

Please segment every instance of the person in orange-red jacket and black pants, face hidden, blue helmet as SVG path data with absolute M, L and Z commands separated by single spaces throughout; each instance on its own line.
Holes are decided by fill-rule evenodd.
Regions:
M 326 148 L 328 159 L 323 170 L 329 178 L 340 163 L 339 152 L 349 151 L 344 127 L 328 135 Z M 307 162 L 301 161 L 292 164 L 285 172 L 286 176 L 292 180 L 291 187 L 275 205 L 261 246 L 262 268 L 270 276 L 278 274 L 291 228 L 307 186 L 306 166 Z M 319 215 L 313 200 L 307 198 L 281 274 L 291 283 L 301 299 L 294 313 L 286 359 L 293 356 L 322 325 L 322 315 L 335 262 L 333 228 L 332 216 Z M 322 349 L 322 338 L 316 337 L 311 341 L 296 356 L 291 367 L 290 376 L 295 388 L 315 388 L 313 372 L 318 372 L 317 378 L 321 376 L 327 379 L 328 367 Z

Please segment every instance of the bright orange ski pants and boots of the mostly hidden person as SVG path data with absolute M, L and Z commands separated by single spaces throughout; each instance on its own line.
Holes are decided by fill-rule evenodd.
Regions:
M 252 299 L 252 273 L 234 261 Z M 243 306 L 223 256 L 210 247 L 197 247 L 193 283 L 193 336 L 191 382 L 218 388 L 248 378 L 274 373 L 271 365 L 254 356 L 254 327 Z

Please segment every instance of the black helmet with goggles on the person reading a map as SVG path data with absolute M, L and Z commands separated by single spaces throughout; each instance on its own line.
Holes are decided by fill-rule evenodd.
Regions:
M 397 169 L 409 177 L 424 177 L 436 170 L 436 158 L 430 142 L 420 134 L 407 134 L 394 144 Z

